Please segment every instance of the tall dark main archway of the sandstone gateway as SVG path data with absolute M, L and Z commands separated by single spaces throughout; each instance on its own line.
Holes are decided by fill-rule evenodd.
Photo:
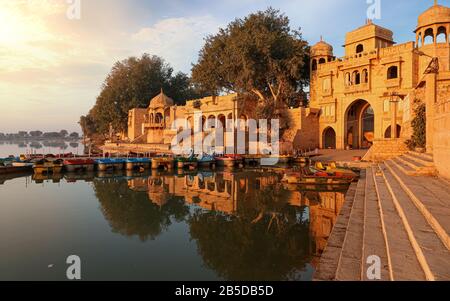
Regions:
M 345 112 L 344 146 L 352 149 L 367 149 L 373 144 L 375 113 L 364 99 L 355 100 Z

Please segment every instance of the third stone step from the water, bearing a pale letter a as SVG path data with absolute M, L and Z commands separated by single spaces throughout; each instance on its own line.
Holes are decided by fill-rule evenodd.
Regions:
M 373 169 L 369 168 L 366 172 L 365 187 L 362 280 L 391 280 L 390 263 L 384 233 L 374 173 Z M 381 260 L 381 279 L 368 278 L 367 271 L 373 264 L 370 261 L 371 256 L 377 256 Z

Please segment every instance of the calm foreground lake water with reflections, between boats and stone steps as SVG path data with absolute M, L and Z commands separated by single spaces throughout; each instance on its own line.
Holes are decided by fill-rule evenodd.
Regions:
M 0 178 L 0 280 L 311 280 L 342 189 L 269 170 Z M 309 187 L 313 188 L 313 187 Z

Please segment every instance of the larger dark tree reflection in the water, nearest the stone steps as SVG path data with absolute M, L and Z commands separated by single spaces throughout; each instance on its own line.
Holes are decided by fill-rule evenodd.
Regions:
M 233 216 L 196 210 L 189 224 L 205 264 L 229 280 L 297 280 L 310 261 L 308 220 L 282 194 L 256 191 Z

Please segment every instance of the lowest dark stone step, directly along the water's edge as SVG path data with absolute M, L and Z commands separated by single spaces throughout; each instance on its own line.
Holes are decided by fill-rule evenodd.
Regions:
M 315 281 L 330 281 L 336 279 L 339 258 L 344 244 L 345 234 L 350 220 L 350 213 L 353 208 L 353 202 L 356 194 L 356 183 L 350 185 L 345 195 L 345 201 L 339 212 L 336 224 L 333 226 L 327 246 L 320 256 L 320 263 L 317 271 L 314 273 Z

